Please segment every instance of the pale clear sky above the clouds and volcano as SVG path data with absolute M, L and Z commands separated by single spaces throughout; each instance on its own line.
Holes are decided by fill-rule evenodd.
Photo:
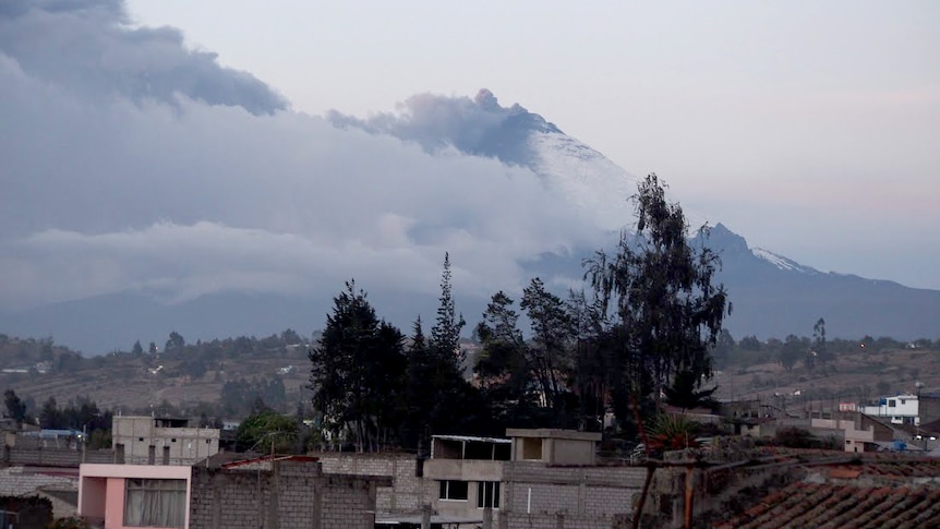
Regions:
M 940 289 L 940 3 L 130 0 L 293 110 L 490 88 L 821 270 Z

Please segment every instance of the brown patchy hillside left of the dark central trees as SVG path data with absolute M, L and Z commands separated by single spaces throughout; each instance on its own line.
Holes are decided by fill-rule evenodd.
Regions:
M 41 352 L 41 341 L 2 338 L 0 387 L 15 390 L 34 413 L 49 397 L 60 405 L 87 397 L 101 409 L 123 413 L 160 412 L 170 405 L 186 414 L 212 408 L 240 414 L 255 396 L 285 412 L 308 400 L 308 346 L 288 342 L 282 335 L 200 342 L 156 354 L 82 358 L 57 348 L 48 371 L 37 356 L 22 352 L 36 346 Z

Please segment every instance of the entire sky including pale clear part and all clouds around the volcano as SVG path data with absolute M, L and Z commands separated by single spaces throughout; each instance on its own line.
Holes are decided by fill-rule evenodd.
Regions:
M 0 3 L 0 310 L 353 276 L 433 294 L 445 251 L 458 292 L 518 288 L 521 262 L 596 242 L 589 214 L 526 168 L 326 118 L 433 131 L 483 87 L 751 245 L 940 289 L 938 22 L 933 2 Z

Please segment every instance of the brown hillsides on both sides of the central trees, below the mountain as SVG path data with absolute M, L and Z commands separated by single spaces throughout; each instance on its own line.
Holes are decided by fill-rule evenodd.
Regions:
M 747 339 L 719 359 L 721 369 L 708 384 L 719 386 L 715 397 L 721 400 L 762 399 L 796 411 L 918 389 L 940 393 L 940 341 L 834 340 L 830 342 L 834 360 L 812 368 L 797 360 L 786 370 L 778 361 L 784 342 L 770 340 L 746 350 L 742 344 Z M 309 402 L 308 347 L 286 330 L 260 339 L 186 345 L 169 353 L 82 358 L 47 340 L 0 335 L 0 388 L 15 390 L 34 413 L 49 397 L 60 405 L 87 397 L 115 412 L 159 413 L 169 405 L 185 414 L 218 410 L 225 418 L 237 418 L 251 408 L 255 396 L 291 412 Z M 468 350 L 472 356 L 473 348 Z M 40 364 L 46 371 L 44 362 L 47 372 L 36 369 Z

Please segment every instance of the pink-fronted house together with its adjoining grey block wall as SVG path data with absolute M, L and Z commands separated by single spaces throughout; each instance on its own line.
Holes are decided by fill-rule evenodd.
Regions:
M 105 529 L 373 529 L 374 476 L 324 473 L 316 458 L 209 458 L 195 466 L 82 465 L 79 515 Z

